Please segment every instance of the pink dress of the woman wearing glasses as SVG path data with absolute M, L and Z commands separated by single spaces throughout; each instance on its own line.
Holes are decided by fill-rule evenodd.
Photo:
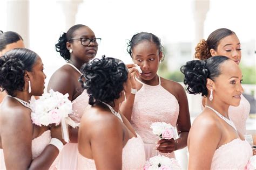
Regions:
M 73 103 L 74 114 L 70 115 L 71 119 L 76 123 L 80 122 L 80 119 L 84 113 L 84 110 L 89 105 L 89 96 L 86 90 L 83 91 Z M 63 150 L 59 154 L 57 169 L 77 169 L 77 156 L 78 148 L 77 143 L 67 143 L 64 145 Z

